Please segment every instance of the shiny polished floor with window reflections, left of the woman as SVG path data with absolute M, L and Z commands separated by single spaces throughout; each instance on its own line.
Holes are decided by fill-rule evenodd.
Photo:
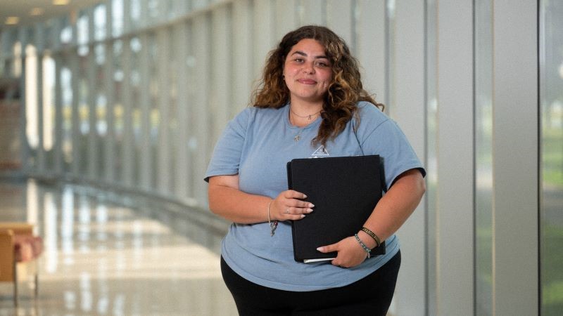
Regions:
M 220 274 L 225 223 L 77 185 L 0 182 L 0 221 L 37 224 L 39 299 L 0 283 L 4 315 L 236 315 Z

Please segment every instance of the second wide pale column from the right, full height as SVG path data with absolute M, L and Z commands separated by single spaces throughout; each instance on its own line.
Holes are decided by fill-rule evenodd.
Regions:
M 474 314 L 473 1 L 437 4 L 436 310 Z M 433 233 L 433 232 L 430 232 Z

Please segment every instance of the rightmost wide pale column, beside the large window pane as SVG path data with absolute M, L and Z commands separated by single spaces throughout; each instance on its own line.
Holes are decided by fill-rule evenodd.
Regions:
M 493 1 L 493 315 L 538 313 L 537 14 Z

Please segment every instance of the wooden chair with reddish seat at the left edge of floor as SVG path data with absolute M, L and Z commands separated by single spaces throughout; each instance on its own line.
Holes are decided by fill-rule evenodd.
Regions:
M 34 298 L 37 299 L 37 258 L 42 252 L 43 239 L 33 235 L 33 225 L 0 222 L 0 282 L 13 283 L 14 305 L 18 305 L 18 282 L 24 274 L 33 275 Z

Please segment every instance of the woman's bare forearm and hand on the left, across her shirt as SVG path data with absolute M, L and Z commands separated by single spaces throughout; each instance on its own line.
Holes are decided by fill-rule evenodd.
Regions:
M 270 202 L 270 220 L 300 220 L 313 206 L 301 201 L 305 195 L 294 190 L 281 192 L 275 199 L 243 192 L 239 190 L 239 175 L 209 178 L 208 196 L 213 213 L 241 224 L 267 222 Z

